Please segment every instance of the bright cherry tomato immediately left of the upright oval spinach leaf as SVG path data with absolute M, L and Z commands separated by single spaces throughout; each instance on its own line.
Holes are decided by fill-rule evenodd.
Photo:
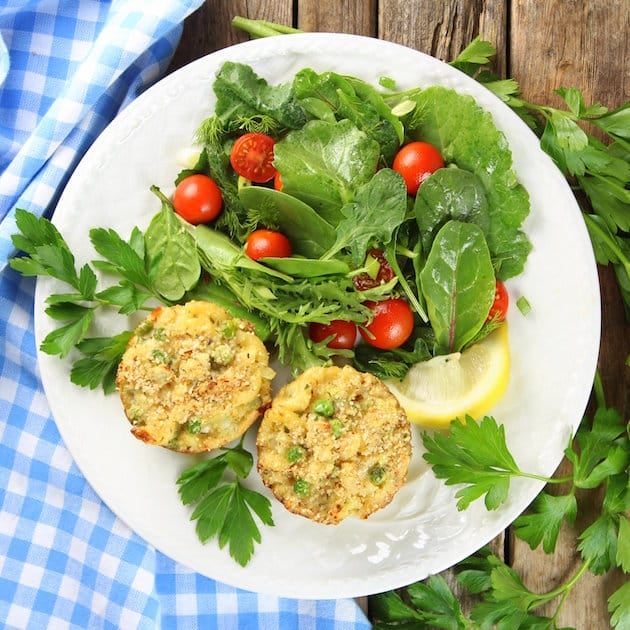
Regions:
M 390 298 L 380 302 L 365 302 L 374 316 L 372 321 L 361 328 L 361 336 L 367 343 L 391 350 L 402 346 L 413 332 L 413 312 L 402 298 Z

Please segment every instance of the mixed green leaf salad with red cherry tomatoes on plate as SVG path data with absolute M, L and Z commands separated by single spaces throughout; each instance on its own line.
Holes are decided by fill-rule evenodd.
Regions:
M 148 254 L 177 266 L 163 298 L 250 319 L 295 374 L 341 356 L 400 379 L 504 319 L 529 199 L 471 97 L 309 68 L 270 85 L 234 62 L 214 92 L 198 159 L 172 200 L 154 189 Z M 173 210 L 185 230 L 162 229 Z

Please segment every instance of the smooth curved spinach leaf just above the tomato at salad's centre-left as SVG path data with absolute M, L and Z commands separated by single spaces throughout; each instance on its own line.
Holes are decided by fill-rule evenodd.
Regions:
M 244 186 L 239 196 L 246 208 L 264 207 L 271 213 L 295 254 L 319 258 L 335 242 L 332 225 L 296 197 L 264 186 Z

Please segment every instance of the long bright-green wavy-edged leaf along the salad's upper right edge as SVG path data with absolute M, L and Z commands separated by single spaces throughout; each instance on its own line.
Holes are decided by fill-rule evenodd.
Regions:
M 488 247 L 497 276 L 503 280 L 523 271 L 531 243 L 520 227 L 529 214 L 529 196 L 518 183 L 512 154 L 492 116 L 471 96 L 442 86 L 419 90 L 408 126 L 412 138 L 437 146 L 444 160 L 471 171 L 488 199 Z

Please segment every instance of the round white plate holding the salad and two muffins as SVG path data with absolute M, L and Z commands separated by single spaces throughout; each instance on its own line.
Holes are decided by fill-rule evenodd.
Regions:
M 532 311 L 513 307 L 509 389 L 493 409 L 523 470 L 550 475 L 562 459 L 585 409 L 599 348 L 599 285 L 587 233 L 564 178 L 536 137 L 497 98 L 450 66 L 388 42 L 351 35 L 304 34 L 261 39 L 204 57 L 160 81 L 132 103 L 98 138 L 72 176 L 54 221 L 77 262 L 95 257 L 92 227 L 127 237 L 159 209 L 149 192 L 172 190 L 178 151 L 212 112 L 212 82 L 224 61 L 248 63 L 270 83 L 303 67 L 381 76 L 401 89 L 440 84 L 473 95 L 506 134 L 520 181 L 531 195 L 525 229 L 534 249 L 526 271 L 508 282 L 512 302 L 524 295 Z M 52 329 L 44 300 L 56 283 L 41 279 L 36 296 L 38 343 Z M 132 325 L 112 315 L 96 334 Z M 513 483 L 509 500 L 487 512 L 479 501 L 458 512 L 455 489 L 423 463 L 418 434 L 409 481 L 394 501 L 365 521 L 319 525 L 273 501 L 275 527 L 245 568 L 214 542 L 201 545 L 175 480 L 193 459 L 133 438 L 118 396 L 70 383 L 70 359 L 40 354 L 42 380 L 61 435 L 105 503 L 157 549 L 204 575 L 244 589 L 300 598 L 354 597 L 410 584 L 467 557 L 511 523 L 541 484 Z M 249 435 L 253 447 L 253 436 Z M 253 449 L 252 449 L 253 450 Z M 269 493 L 253 473 L 249 486 Z M 271 496 L 271 495 L 269 495 Z

